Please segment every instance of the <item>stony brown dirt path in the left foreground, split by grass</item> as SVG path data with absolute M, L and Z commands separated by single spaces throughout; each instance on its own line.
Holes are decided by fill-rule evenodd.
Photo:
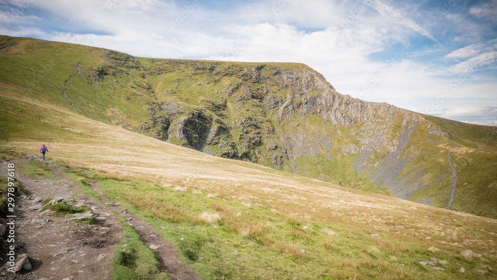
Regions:
M 0 160 L 2 174 L 6 173 L 6 166 L 6 161 Z M 8 272 L 5 257 L 7 245 L 12 243 L 4 242 L 0 248 L 0 280 L 109 279 L 112 245 L 123 238 L 124 228 L 120 219 L 112 214 L 109 207 L 80 192 L 79 186 L 62 174 L 57 166 L 50 164 L 50 167 L 60 179 L 31 179 L 20 173 L 15 175 L 26 192 L 15 201 L 16 261 L 22 254 L 27 254 L 32 270 L 17 274 Z M 101 191 L 95 183 L 92 187 Z M 70 217 L 40 215 L 38 209 L 49 197 L 63 197 L 70 204 L 83 202 L 93 209 L 97 223 L 88 225 L 75 223 Z M 125 212 L 120 205 L 111 204 L 110 207 L 128 219 L 147 245 L 155 246 L 152 248 L 161 260 L 161 270 L 171 278 L 200 279 L 192 269 L 180 262 L 176 248 L 155 234 L 150 225 Z

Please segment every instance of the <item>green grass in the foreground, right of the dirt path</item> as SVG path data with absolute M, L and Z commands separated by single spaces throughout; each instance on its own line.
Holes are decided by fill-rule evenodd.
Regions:
M 441 266 L 453 273 L 459 269 L 456 262 L 467 268 L 484 266 L 464 260 L 448 248 L 427 250 L 432 242 L 420 248 L 415 240 L 389 237 L 384 230 L 367 230 L 359 221 L 342 226 L 326 218 L 276 213 L 264 205 L 247 208 L 237 199 L 209 198 L 143 181 L 105 180 L 99 184 L 108 199 L 132 209 L 175 244 L 185 262 L 203 279 L 390 279 L 393 274 L 449 279 L 447 274 L 421 269 L 417 261 L 441 259 L 446 262 Z M 135 199 L 137 195 L 140 200 Z M 221 219 L 206 222 L 199 218 L 202 212 L 219 213 Z M 416 222 L 407 223 L 415 227 Z M 406 222 L 390 226 L 403 224 Z M 307 230 L 302 229 L 304 225 Z M 381 237 L 369 236 L 378 231 Z

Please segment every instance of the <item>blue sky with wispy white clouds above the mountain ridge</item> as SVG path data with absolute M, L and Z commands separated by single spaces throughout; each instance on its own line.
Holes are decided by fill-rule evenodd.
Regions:
M 497 0 L 0 0 L 0 34 L 299 62 L 338 93 L 497 126 Z

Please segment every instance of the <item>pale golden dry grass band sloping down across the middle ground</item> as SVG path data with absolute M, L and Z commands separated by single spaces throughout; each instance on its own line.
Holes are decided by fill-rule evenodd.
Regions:
M 50 109 L 60 108 L 51 106 Z M 352 242 L 344 241 L 344 238 L 354 235 L 362 236 L 363 242 L 367 243 L 362 250 L 386 254 L 388 260 L 395 257 L 400 262 L 402 253 L 409 249 L 423 254 L 426 251 L 429 254 L 461 251 L 485 253 L 489 266 L 497 263 L 497 246 L 489 246 L 497 242 L 496 220 L 380 194 L 364 194 L 247 162 L 212 157 L 91 121 L 63 109 L 59 112 L 66 117 L 53 121 L 60 126 L 71 127 L 67 132 L 71 137 L 47 142 L 34 134 L 31 140 L 2 142 L 1 146 L 17 152 L 37 154 L 39 144 L 43 141 L 50 149 L 49 160 L 61 160 L 69 165 L 92 169 L 102 179 L 140 179 L 157 182 L 157 185 L 165 187 L 184 187 L 186 193 L 181 195 L 205 193 L 206 197 L 212 198 L 209 199 L 212 203 L 221 199 L 240 199 L 230 201 L 239 208 L 228 210 L 221 206 L 211 207 L 219 218 L 209 218 L 207 214 L 190 214 L 185 209 L 167 205 L 153 197 L 137 200 L 136 196 L 120 195 L 121 199 L 129 201 L 147 215 L 168 221 L 194 223 L 215 223 L 221 219 L 229 225 L 229 230 L 249 240 L 255 238 L 281 254 L 298 258 L 305 256 L 307 252 L 300 251 L 303 248 L 297 242 L 307 238 L 309 233 L 295 229 L 288 234 L 295 239 L 281 241 L 271 236 L 272 227 L 265 220 L 259 222 L 244 218 L 242 211 L 245 213 L 263 206 L 268 209 L 267 217 L 274 215 L 285 219 L 285 223 L 305 225 L 308 220 L 314 220 L 324 224 L 323 228 L 326 229 L 319 230 L 323 237 L 317 243 L 317 247 L 323 250 L 322 246 L 334 251 L 340 247 L 335 245 L 339 244 L 334 243 L 338 242 L 336 240 Z M 286 229 L 285 232 L 288 233 Z M 379 233 L 381 237 L 370 237 L 371 233 Z M 388 255 L 384 252 L 388 252 Z M 393 252 L 399 253 L 394 256 Z M 484 262 L 476 257 L 464 258 Z M 385 266 L 383 261 L 367 260 L 355 264 L 352 261 L 340 263 L 335 260 L 327 275 L 345 279 L 348 275 L 353 278 L 364 267 L 370 266 L 372 271 L 381 270 Z M 398 273 L 396 276 L 399 279 L 408 279 L 410 276 L 401 268 L 385 271 L 393 270 Z M 466 270 L 467 274 L 469 270 Z M 488 274 L 484 269 L 477 271 L 471 268 L 471 273 L 475 272 Z M 378 273 L 372 277 L 382 279 L 384 275 Z

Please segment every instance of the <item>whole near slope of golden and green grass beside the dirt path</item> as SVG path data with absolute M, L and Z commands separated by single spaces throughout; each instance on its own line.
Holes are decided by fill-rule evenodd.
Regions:
M 37 154 L 43 141 L 49 160 L 145 217 L 203 279 L 495 278 L 496 220 L 213 157 L 25 91 L 0 91 L 1 149 Z M 418 263 L 432 259 L 445 270 Z

